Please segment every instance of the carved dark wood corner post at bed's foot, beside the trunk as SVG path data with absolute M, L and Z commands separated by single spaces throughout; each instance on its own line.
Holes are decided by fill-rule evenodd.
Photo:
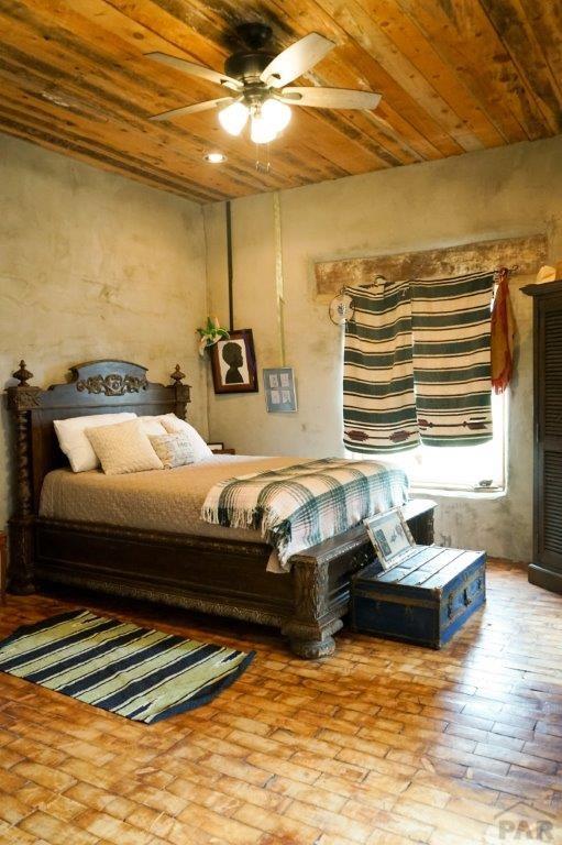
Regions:
M 328 606 L 328 564 L 315 558 L 294 559 L 295 616 L 282 628 L 298 657 L 316 660 L 335 651 L 331 636 L 343 623 Z

